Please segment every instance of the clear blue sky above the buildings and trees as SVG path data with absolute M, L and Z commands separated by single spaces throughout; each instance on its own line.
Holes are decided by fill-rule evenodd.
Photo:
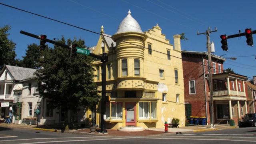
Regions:
M 182 50 L 207 51 L 206 32 L 208 27 L 218 32 L 210 35 L 215 43 L 215 53 L 227 59 L 224 68 L 232 68 L 238 74 L 255 76 L 256 47 L 247 46 L 245 36 L 228 39 L 228 52 L 222 51 L 221 34 L 237 34 L 246 28 L 256 30 L 255 0 L 0 0 L 20 9 L 34 12 L 75 26 L 100 32 L 104 26 L 106 34 L 114 34 L 128 10 L 132 12 L 142 31 L 158 23 L 162 33 L 170 39 L 184 32 L 189 40 L 182 41 Z M 9 39 L 16 43 L 17 58 L 25 56 L 28 44 L 39 44 L 39 40 L 20 34 L 20 30 L 36 35 L 46 34 L 47 38 L 82 38 L 86 46 L 94 46 L 99 35 L 73 28 L 52 20 L 0 5 L 0 27 L 10 25 Z M 254 38 L 256 45 L 256 38 Z M 49 44 L 52 46 L 51 44 Z

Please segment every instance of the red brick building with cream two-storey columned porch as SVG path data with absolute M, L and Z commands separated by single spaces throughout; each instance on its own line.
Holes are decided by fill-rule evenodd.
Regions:
M 212 54 L 214 123 L 238 122 L 247 113 L 246 76 L 223 72 L 226 59 Z M 206 117 L 210 123 L 208 53 L 182 51 L 186 117 Z M 231 112 L 231 113 L 230 113 Z

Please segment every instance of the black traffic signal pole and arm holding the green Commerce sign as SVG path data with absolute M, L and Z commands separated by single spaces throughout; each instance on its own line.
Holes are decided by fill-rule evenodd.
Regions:
M 31 34 L 29 32 L 20 31 L 21 34 L 40 39 L 39 36 L 35 34 Z M 49 42 L 51 44 L 55 44 L 57 46 L 61 46 L 63 48 L 70 49 L 70 46 L 66 44 L 61 44 L 59 42 L 56 42 L 54 40 L 45 39 L 46 42 Z M 100 132 L 103 134 L 106 133 L 106 121 L 104 120 L 104 116 L 106 116 L 106 64 L 108 62 L 108 56 L 106 53 L 103 53 L 102 56 L 98 56 L 96 54 L 90 53 L 89 56 L 92 56 L 93 58 L 97 58 L 102 62 L 102 95 L 101 95 L 101 124 L 100 124 Z

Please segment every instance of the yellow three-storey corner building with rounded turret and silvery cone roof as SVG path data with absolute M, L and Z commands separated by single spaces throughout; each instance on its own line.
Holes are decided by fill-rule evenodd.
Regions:
M 172 118 L 185 126 L 180 35 L 173 36 L 172 45 L 158 24 L 142 32 L 130 10 L 113 36 L 105 34 L 103 26 L 101 33 L 92 50 L 108 55 L 106 96 L 111 99 L 106 103 L 106 128 L 163 128 Z M 95 66 L 95 82 L 101 91 L 101 62 Z M 100 126 L 100 105 L 87 116 Z

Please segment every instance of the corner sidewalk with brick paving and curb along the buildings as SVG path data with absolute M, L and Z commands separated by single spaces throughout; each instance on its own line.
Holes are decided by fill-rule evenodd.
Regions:
M 74 134 L 86 134 L 86 135 L 102 135 L 98 132 L 100 129 L 98 128 L 98 132 L 90 132 L 89 128 L 79 128 L 79 129 L 73 129 L 73 130 L 61 130 L 59 128 L 52 128 L 51 126 L 38 126 L 32 125 L 29 126 L 27 124 L 5 124 L 0 123 L 0 126 L 2 127 L 9 127 L 9 128 L 32 128 L 35 130 L 44 130 L 48 132 L 66 132 L 66 133 L 74 133 Z M 192 126 L 186 126 L 181 128 L 168 128 L 169 134 L 176 134 L 183 133 L 183 132 L 204 132 L 204 131 L 212 131 L 212 130 L 222 130 L 222 129 L 229 129 L 229 128 L 237 128 L 238 126 L 229 126 L 228 124 L 216 124 L 215 128 L 210 128 L 210 125 L 192 125 Z M 158 135 L 158 134 L 166 134 L 163 128 L 147 128 L 144 131 L 141 132 L 121 132 L 118 130 L 112 130 L 107 129 L 108 135 L 110 136 L 150 136 L 150 135 Z

